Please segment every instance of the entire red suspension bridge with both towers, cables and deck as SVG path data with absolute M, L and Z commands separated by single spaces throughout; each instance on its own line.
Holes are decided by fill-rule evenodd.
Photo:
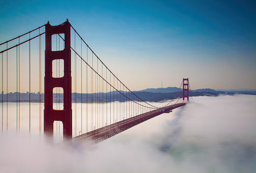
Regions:
M 188 101 L 189 83 L 184 78 L 182 92 L 167 105 L 143 101 L 68 20 L 56 26 L 48 22 L 1 43 L 0 50 L 2 134 L 16 129 L 55 135 L 57 141 L 63 137 L 98 143 Z

